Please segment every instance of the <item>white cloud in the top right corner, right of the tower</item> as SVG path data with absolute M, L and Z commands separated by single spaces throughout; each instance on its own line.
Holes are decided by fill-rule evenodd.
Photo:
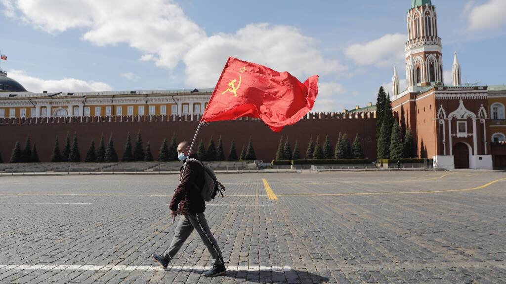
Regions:
M 469 12 L 469 29 L 472 31 L 497 28 L 506 24 L 506 1 L 489 0 L 487 3 L 474 6 L 473 2 L 466 6 Z

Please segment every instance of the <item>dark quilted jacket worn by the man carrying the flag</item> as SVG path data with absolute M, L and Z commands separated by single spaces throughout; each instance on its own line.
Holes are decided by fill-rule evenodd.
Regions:
M 197 159 L 197 155 L 192 154 L 189 158 Z M 198 188 L 202 188 L 204 185 L 204 169 L 202 166 L 196 161 L 188 161 L 184 175 L 183 167 L 179 170 L 179 178 L 181 182 L 174 191 L 169 208 L 183 215 L 203 213 L 205 211 L 205 200 L 195 187 L 196 185 Z

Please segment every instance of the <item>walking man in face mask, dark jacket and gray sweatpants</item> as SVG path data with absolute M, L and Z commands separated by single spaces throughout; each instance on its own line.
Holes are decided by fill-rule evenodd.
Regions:
M 193 229 L 195 229 L 215 260 L 212 269 L 205 271 L 203 275 L 222 275 L 227 271 L 225 262 L 223 261 L 220 247 L 205 220 L 205 201 L 200 195 L 200 188 L 204 185 L 204 168 L 197 161 L 197 155 L 189 155 L 189 152 L 190 144 L 187 141 L 183 141 L 178 145 L 179 160 L 183 163 L 186 159 L 189 160 L 186 163 L 185 172 L 183 173 L 183 167 L 179 171 L 181 182 L 174 192 L 171 204 L 169 205 L 173 217 L 176 217 L 178 214 L 182 216 L 174 232 L 171 247 L 162 255 L 153 254 L 153 259 L 163 268 L 167 268 L 168 263 L 174 258 L 174 255 L 181 249 L 183 243 L 188 239 Z

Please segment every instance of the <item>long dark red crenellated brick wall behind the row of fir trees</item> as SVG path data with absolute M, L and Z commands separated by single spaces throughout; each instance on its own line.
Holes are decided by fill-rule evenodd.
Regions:
M 58 136 L 60 150 L 63 150 L 67 133 L 71 138 L 76 133 L 81 157 L 85 157 L 92 139 L 98 148 L 100 135 L 104 134 L 107 143 L 112 133 L 114 147 L 121 159 L 126 133 L 131 133 L 134 142 L 137 132 L 141 131 L 144 147 L 150 141 L 156 159 L 163 138 L 170 142 L 175 133 L 178 141 L 191 140 L 199 120 L 200 115 L 0 118 L 0 154 L 5 162 L 9 161 L 16 141 L 24 147 L 26 137 L 29 135 L 31 143 L 37 145 L 40 161 L 47 162 L 53 152 L 55 137 Z M 298 140 L 304 158 L 311 137 L 316 140 L 316 136 L 320 135 L 320 143 L 323 145 L 325 135 L 328 134 L 332 147 L 335 147 L 339 132 L 348 133 L 350 144 L 358 134 L 365 156 L 371 159 L 376 157 L 374 140 L 376 118 L 373 113 L 309 113 L 298 123 L 285 127 L 280 133 L 272 132 L 258 119 L 241 118 L 234 121 L 213 122 L 200 128 L 196 142 L 198 145 L 202 139 L 207 145 L 213 136 L 217 144 L 221 135 L 226 156 L 232 140 L 235 140 L 239 155 L 242 146 L 247 146 L 251 136 L 257 159 L 270 162 L 275 157 L 281 135 L 283 139 L 288 137 L 292 149 Z

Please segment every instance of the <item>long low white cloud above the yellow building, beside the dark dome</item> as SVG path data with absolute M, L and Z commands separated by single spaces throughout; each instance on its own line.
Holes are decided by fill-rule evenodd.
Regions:
M 74 92 L 74 91 L 109 91 L 112 87 L 104 82 L 83 81 L 74 78 L 63 78 L 60 80 L 45 80 L 32 77 L 23 70 L 11 70 L 9 77 L 18 81 L 28 91 L 42 92 Z

